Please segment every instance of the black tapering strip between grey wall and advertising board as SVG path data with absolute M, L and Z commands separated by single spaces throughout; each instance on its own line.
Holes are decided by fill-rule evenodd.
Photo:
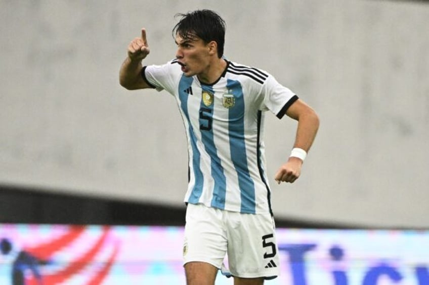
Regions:
M 0 186 L 0 223 L 173 225 L 185 224 L 185 205 L 168 206 L 94 196 Z M 361 229 L 347 224 L 276 218 L 277 227 Z

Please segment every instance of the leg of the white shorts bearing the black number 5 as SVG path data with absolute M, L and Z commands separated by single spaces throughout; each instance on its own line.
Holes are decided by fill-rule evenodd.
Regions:
M 229 213 L 227 222 L 229 269 L 233 276 L 243 278 L 237 278 L 237 284 L 253 284 L 251 279 L 259 277 L 275 278 L 280 273 L 280 260 L 272 216 Z

